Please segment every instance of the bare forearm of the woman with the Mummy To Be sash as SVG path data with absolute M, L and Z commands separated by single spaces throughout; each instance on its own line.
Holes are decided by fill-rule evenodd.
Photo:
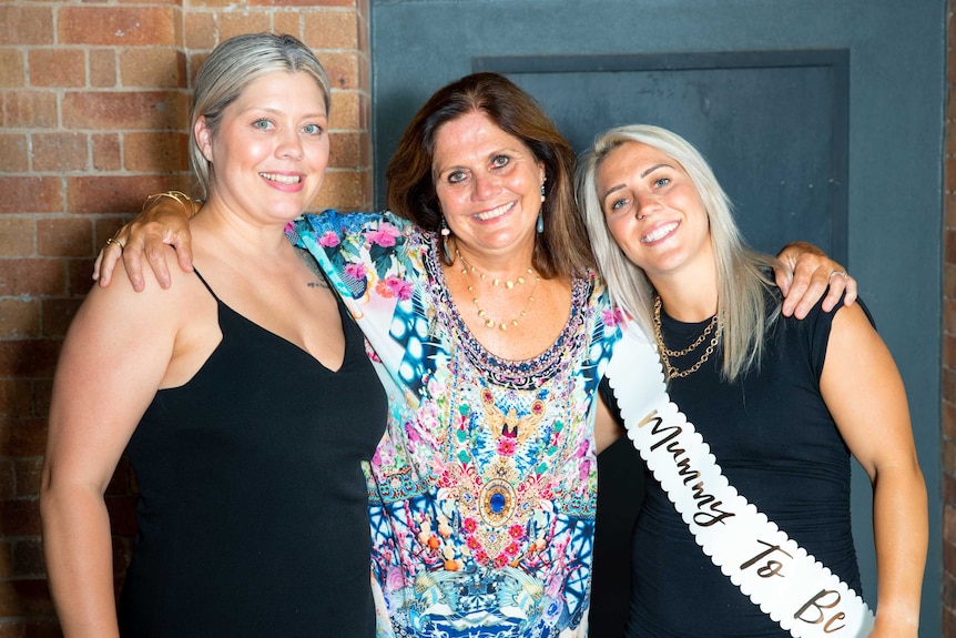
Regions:
M 873 495 L 877 615 L 874 636 L 917 636 L 926 564 L 926 487 L 912 465 L 877 473 Z

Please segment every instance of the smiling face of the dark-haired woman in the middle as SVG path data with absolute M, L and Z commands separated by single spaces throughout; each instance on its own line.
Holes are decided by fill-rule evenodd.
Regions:
M 467 113 L 436 132 L 431 174 L 462 253 L 530 261 L 545 164 L 521 140 L 485 113 Z

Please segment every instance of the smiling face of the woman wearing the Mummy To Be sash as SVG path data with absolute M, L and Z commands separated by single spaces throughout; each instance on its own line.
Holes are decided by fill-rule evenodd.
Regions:
M 604 156 L 596 184 L 608 230 L 652 282 L 713 270 L 706 210 L 690 175 L 673 158 L 640 142 L 626 142 Z

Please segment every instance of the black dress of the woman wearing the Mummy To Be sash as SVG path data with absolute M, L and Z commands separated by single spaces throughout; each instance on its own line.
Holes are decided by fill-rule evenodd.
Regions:
M 685 324 L 664 313 L 661 320 L 672 350 L 692 343 L 708 323 Z M 832 321 L 833 313 L 822 312 L 820 304 L 804 321 L 781 317 L 767 337 L 760 372 L 728 384 L 718 351 L 699 371 L 671 381 L 668 392 L 710 445 L 730 484 L 860 594 L 850 452 L 820 394 Z M 608 389 L 604 383 L 606 397 Z M 650 473 L 645 478 L 632 536 L 626 635 L 790 636 L 711 563 L 660 484 Z

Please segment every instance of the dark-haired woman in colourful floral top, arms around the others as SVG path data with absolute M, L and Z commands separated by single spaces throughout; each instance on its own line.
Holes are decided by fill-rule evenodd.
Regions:
M 597 453 L 619 434 L 597 391 L 620 331 L 572 165 L 530 95 L 477 73 L 436 92 L 399 140 L 390 212 L 325 211 L 291 230 L 390 399 L 368 468 L 382 635 L 587 635 Z M 124 231 L 126 251 L 169 234 L 186 255 L 179 204 L 154 212 L 172 232 Z M 104 277 L 119 252 L 106 256 Z

